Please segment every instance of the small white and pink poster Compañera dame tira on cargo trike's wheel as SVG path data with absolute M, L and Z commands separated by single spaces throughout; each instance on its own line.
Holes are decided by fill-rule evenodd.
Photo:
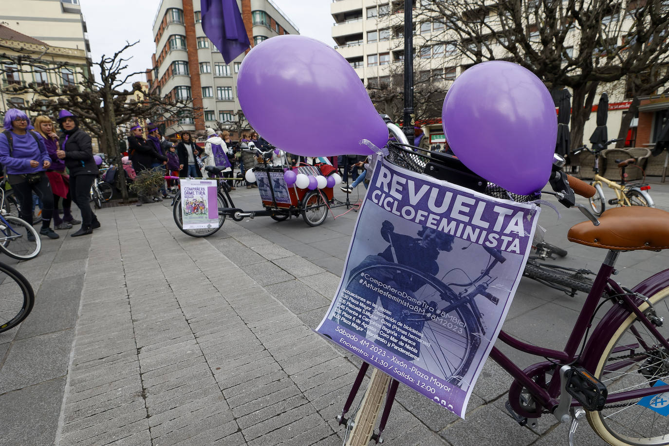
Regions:
M 181 219 L 183 229 L 202 229 L 218 225 L 215 180 L 181 179 Z

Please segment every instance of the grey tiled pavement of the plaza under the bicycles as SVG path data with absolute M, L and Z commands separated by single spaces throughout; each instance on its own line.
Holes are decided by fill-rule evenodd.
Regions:
M 669 187 L 653 192 L 669 209 Z M 255 189 L 233 194 L 256 209 Z M 355 213 L 317 228 L 226 221 L 194 239 L 163 204 L 103 209 L 93 237 L 45 240 L 39 257 L 17 265 L 37 304 L 0 334 L 0 445 L 341 444 L 334 417 L 359 362 L 310 328 L 337 287 Z M 558 224 L 550 212 L 549 241 L 565 246 L 580 217 L 564 211 Z M 601 258 L 569 251 L 591 269 Z M 669 266 L 666 253 L 629 255 L 622 277 Z M 580 302 L 523 280 L 504 327 L 555 342 Z M 566 427 L 551 417 L 535 430 L 510 419 L 508 384 L 488 361 L 465 421 L 401 386 L 385 442 L 565 444 Z M 577 444 L 601 441 L 585 425 Z

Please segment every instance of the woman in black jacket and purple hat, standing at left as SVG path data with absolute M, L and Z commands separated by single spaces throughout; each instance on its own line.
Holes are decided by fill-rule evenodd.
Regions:
M 63 135 L 56 156 L 65 160 L 65 166 L 70 171 L 72 200 L 82 213 L 82 226 L 72 234 L 72 237 L 92 234 L 93 229 L 100 227 L 100 221 L 90 209 L 90 187 L 98 176 L 98 166 L 93 159 L 90 136 L 79 129 L 76 116 L 68 110 L 60 110 L 58 124 L 63 130 Z

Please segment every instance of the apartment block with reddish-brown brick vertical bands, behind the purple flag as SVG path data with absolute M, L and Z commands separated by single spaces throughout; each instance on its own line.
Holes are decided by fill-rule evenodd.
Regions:
M 252 47 L 275 35 L 299 32 L 271 0 L 237 0 L 237 4 Z M 193 106 L 204 110 L 195 119 L 168 121 L 165 135 L 179 137 L 180 132 L 189 131 L 203 136 L 205 128 L 217 122 L 233 130 L 232 122 L 241 110 L 237 72 L 245 54 L 225 64 L 202 30 L 199 0 L 161 0 L 153 35 L 156 52 L 153 69 L 147 72 L 151 92 L 192 100 Z

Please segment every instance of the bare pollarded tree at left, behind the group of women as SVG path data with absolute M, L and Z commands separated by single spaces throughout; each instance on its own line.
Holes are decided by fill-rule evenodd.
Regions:
M 142 90 L 140 82 L 134 82 L 130 90 L 125 86 L 128 80 L 144 72 L 127 73 L 129 60 L 122 57 L 123 51 L 138 42 L 126 43 L 114 55 L 102 55 L 96 65 L 100 69 L 100 80 L 92 76 L 84 78 L 77 84 L 65 82 L 64 86 L 29 85 L 17 92 L 35 92 L 36 99 L 26 106 L 27 110 L 42 112 L 44 110 L 66 109 L 80 118 L 86 130 L 98 137 L 102 151 L 116 158 L 117 171 L 122 172 L 120 147 L 118 144 L 118 126 L 134 120 L 149 119 L 157 123 L 163 120 L 177 121 L 193 117 L 201 110 L 183 100 L 167 96 L 161 98 L 157 94 L 149 94 Z M 128 97 L 141 92 L 140 100 Z M 124 175 L 119 174 L 121 193 L 124 201 L 128 201 L 128 191 Z

